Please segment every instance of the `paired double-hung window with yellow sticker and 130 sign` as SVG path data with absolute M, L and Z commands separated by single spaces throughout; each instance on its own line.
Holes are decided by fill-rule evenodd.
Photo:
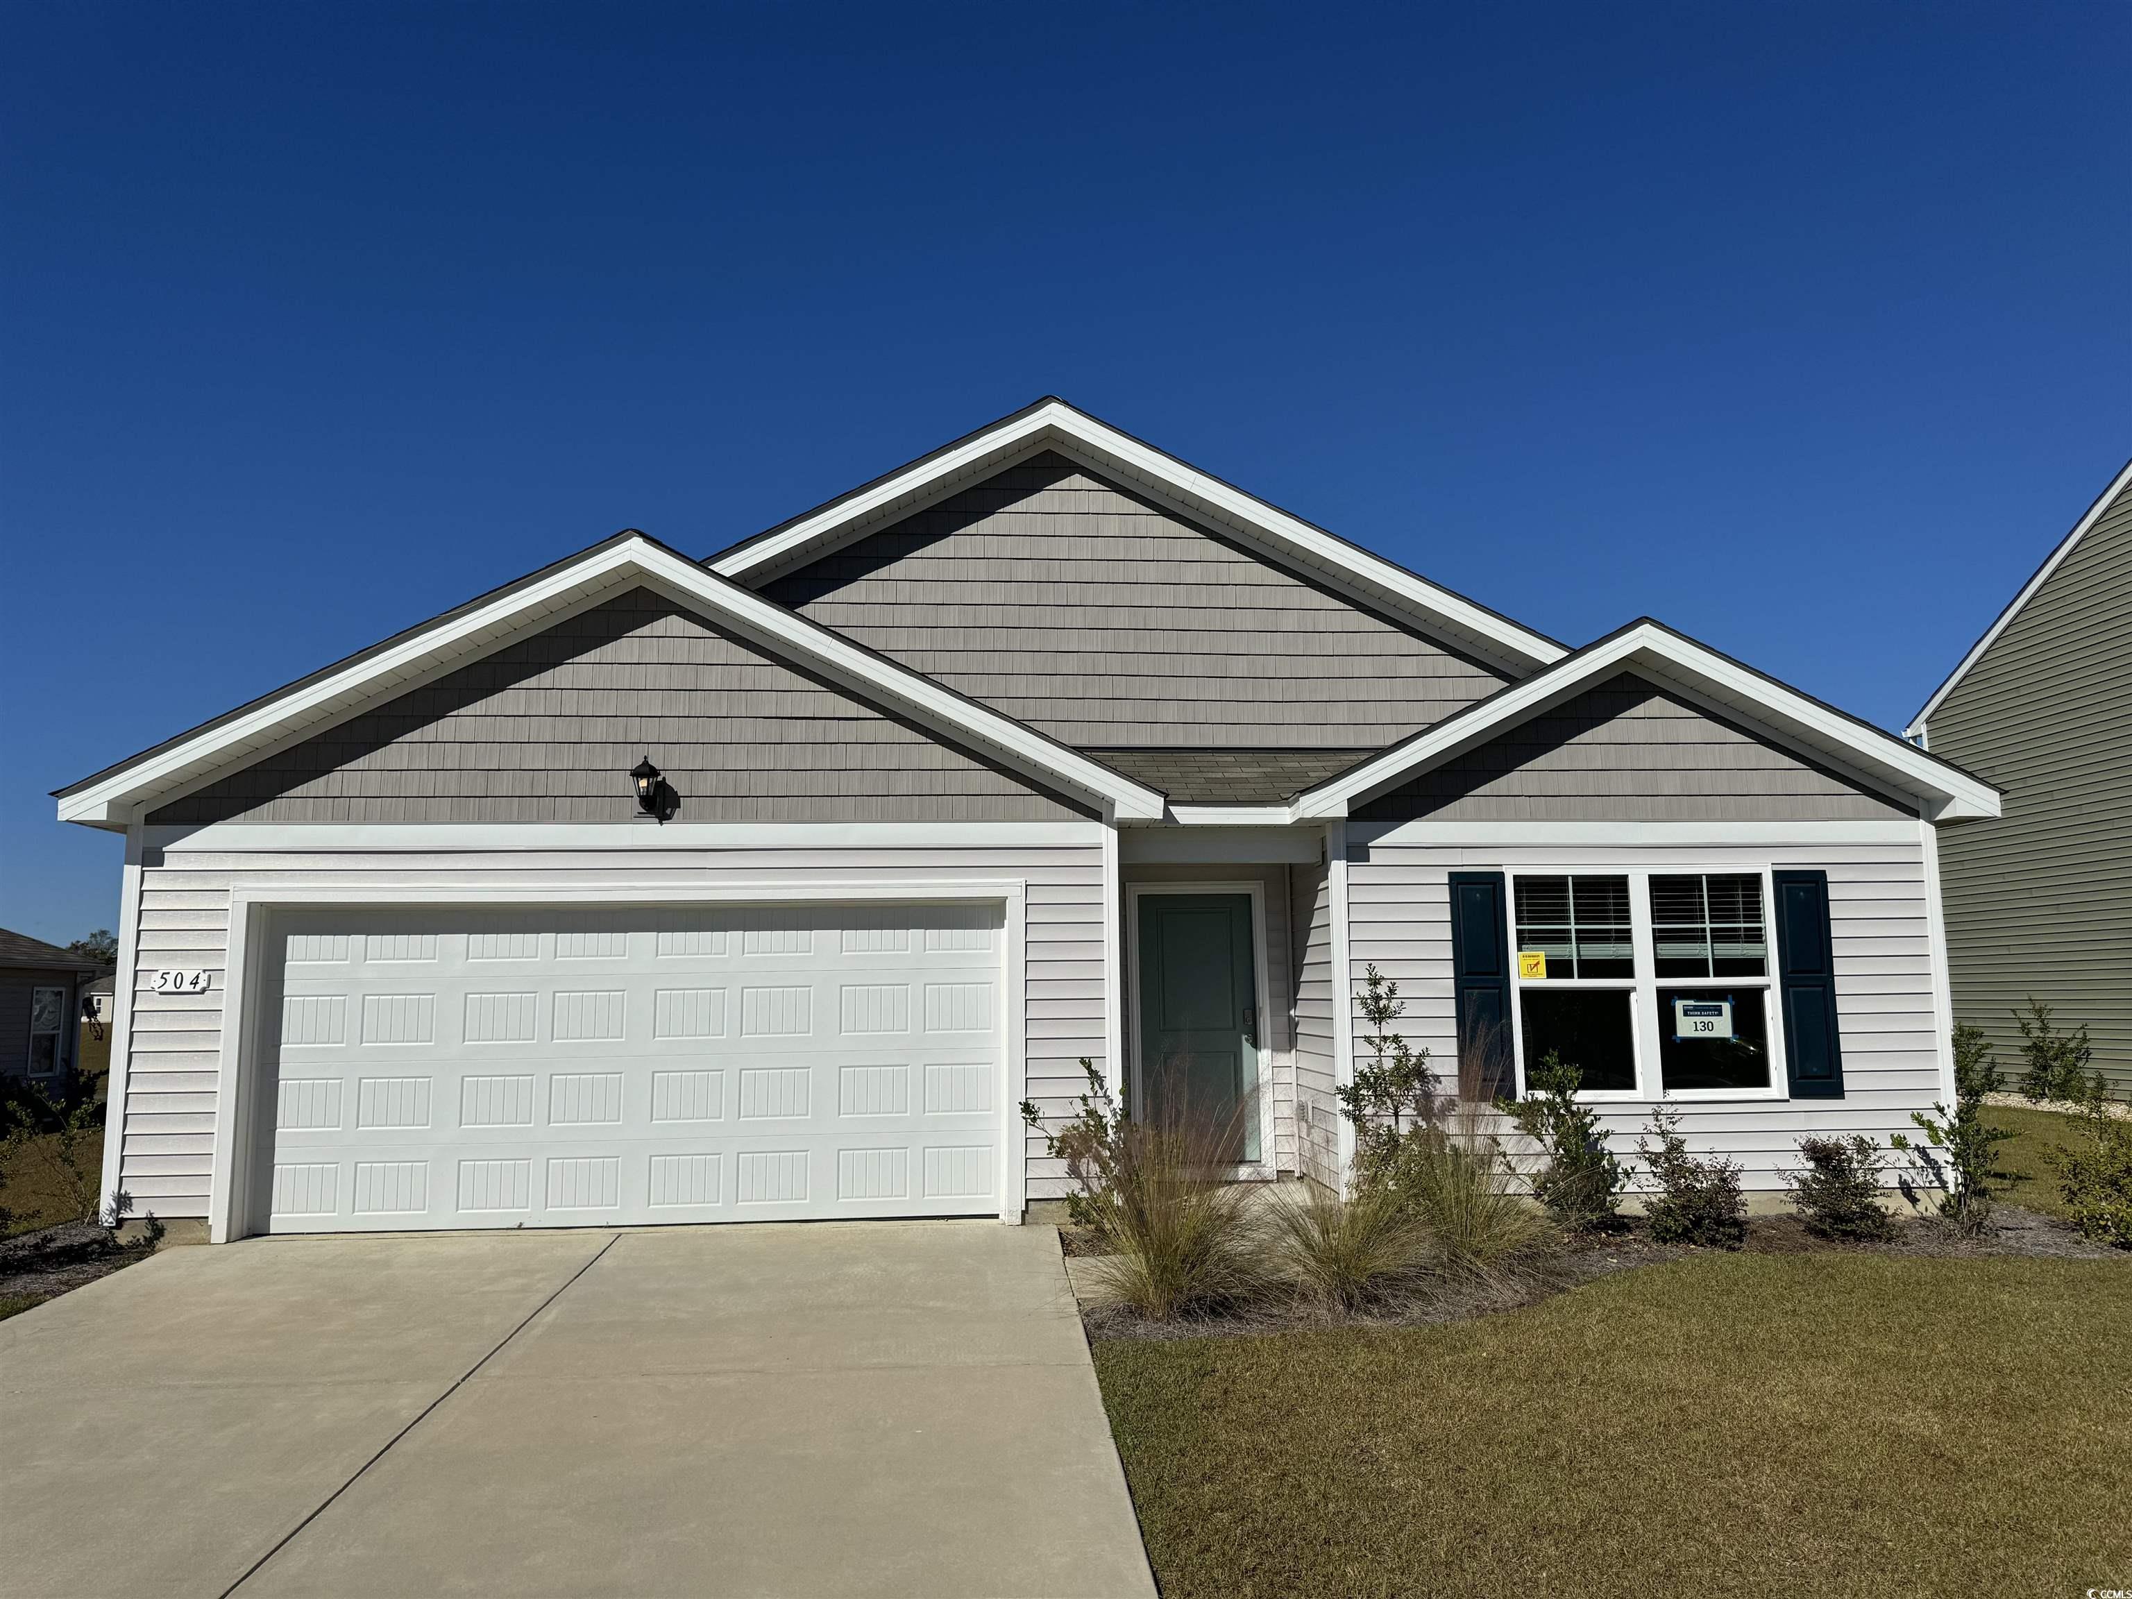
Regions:
M 1520 1083 L 1595 1098 L 1774 1098 L 1765 872 L 1516 872 Z

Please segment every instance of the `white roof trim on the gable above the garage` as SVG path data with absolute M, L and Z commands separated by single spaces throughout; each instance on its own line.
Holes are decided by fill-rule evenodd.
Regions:
M 723 627 L 778 655 L 800 657 L 838 684 L 870 699 L 891 701 L 917 721 L 979 744 L 1028 776 L 1102 802 L 1119 819 L 1162 817 L 1162 795 L 1066 748 L 1030 727 L 987 710 L 900 667 L 857 644 L 793 616 L 746 588 L 712 578 L 697 563 L 644 535 L 612 539 L 544 574 L 535 582 L 420 629 L 399 644 L 326 672 L 313 682 L 200 729 L 168 748 L 151 750 L 111 770 L 100 780 L 60 795 L 60 821 L 124 827 L 147 808 L 207 782 L 232 765 L 256 761 L 341 721 L 384 695 L 405 693 L 467 663 L 503 640 L 552 625 L 554 618 L 597 603 L 631 584 L 648 584 L 716 618 Z

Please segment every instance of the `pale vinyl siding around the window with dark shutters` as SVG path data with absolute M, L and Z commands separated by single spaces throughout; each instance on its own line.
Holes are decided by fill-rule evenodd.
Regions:
M 1806 1134 L 1863 1132 L 1885 1145 L 1915 1132 L 1910 1111 L 1942 1094 L 1934 1038 L 1923 844 L 1774 846 L 1448 846 L 1375 842 L 1352 851 L 1352 991 L 1375 962 L 1407 1000 L 1403 1032 L 1426 1047 L 1445 1081 L 1458 1055 L 1452 1004 L 1450 872 L 1748 872 L 1816 868 L 1829 874 L 1836 1011 L 1844 1098 L 1684 1098 L 1682 1130 L 1703 1153 L 1735 1158 L 1753 1190 L 1780 1188 Z M 1352 1025 L 1352 1017 L 1350 1017 Z M 1360 1028 L 1356 1028 L 1360 1034 Z M 1595 1109 L 1616 1153 L 1635 1149 L 1654 1098 Z

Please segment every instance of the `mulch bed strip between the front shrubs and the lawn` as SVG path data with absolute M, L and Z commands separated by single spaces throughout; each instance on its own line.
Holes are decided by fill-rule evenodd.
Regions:
M 1098 1254 L 1092 1239 L 1060 1230 L 1060 1243 L 1072 1258 Z M 1795 1215 L 1757 1215 L 1746 1224 L 1746 1254 L 1846 1254 L 1846 1256 L 2042 1256 L 2057 1260 L 2126 1260 L 2123 1249 L 2083 1239 L 2057 1217 L 1998 1205 L 1983 1234 L 1970 1237 L 1940 1217 L 1897 1222 L 1895 1237 L 1885 1243 L 1838 1243 L 1816 1239 Z M 1335 1315 L 1311 1303 L 1271 1303 L 1222 1315 L 1185 1315 L 1173 1322 L 1151 1322 L 1121 1305 L 1083 1305 L 1081 1324 L 1089 1339 L 1224 1339 L 1264 1332 L 1301 1332 L 1326 1326 L 1431 1326 L 1495 1315 L 1522 1305 L 1535 1305 L 1554 1294 L 1580 1288 L 1599 1277 L 1637 1266 L 1657 1266 L 1695 1254 L 1714 1254 L 1689 1245 L 1654 1243 L 1640 1220 L 1627 1220 L 1618 1232 L 1593 1239 L 1571 1239 L 1563 1249 L 1501 1277 L 1428 1277 L 1409 1290 L 1386 1296 L 1369 1311 Z

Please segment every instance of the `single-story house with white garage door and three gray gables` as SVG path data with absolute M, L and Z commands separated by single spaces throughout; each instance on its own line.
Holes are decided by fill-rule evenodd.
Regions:
M 1947 1098 L 1991 785 L 1652 620 L 1567 648 L 1045 399 L 625 531 L 58 795 L 126 834 L 104 1185 L 281 1230 L 998 1215 L 1023 1098 L 1339 1181 L 1407 1038 L 1770 1190 Z

